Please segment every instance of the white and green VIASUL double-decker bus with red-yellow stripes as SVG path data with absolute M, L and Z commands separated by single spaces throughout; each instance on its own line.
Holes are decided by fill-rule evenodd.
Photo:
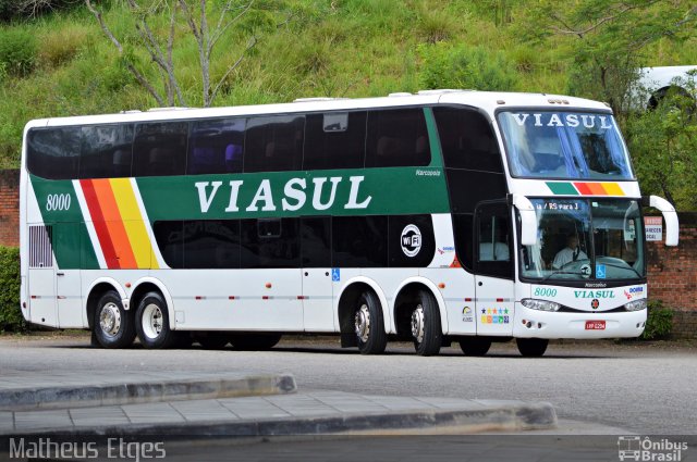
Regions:
M 611 111 L 461 90 L 32 121 L 22 312 L 106 348 L 334 334 L 381 353 L 636 337 L 643 198 Z M 182 340 L 183 341 L 183 340 Z

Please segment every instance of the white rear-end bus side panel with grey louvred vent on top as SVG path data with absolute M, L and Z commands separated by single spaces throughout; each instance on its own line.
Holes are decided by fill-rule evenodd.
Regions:
M 29 321 L 48 326 L 58 325 L 56 309 L 56 270 L 51 246 L 52 226 L 29 225 L 28 305 Z

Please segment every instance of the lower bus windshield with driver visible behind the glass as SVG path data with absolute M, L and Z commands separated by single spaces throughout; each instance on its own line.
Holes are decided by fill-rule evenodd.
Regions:
M 521 275 L 564 280 L 645 277 L 636 200 L 531 199 L 538 241 L 521 249 Z

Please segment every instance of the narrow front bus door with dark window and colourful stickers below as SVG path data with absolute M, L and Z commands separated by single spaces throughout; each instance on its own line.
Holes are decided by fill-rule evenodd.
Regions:
M 478 335 L 513 334 L 515 287 L 511 211 L 501 202 L 486 202 L 475 212 L 475 292 Z

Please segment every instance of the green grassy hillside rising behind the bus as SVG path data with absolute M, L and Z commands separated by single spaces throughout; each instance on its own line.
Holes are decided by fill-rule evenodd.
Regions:
M 424 66 L 417 48 L 439 41 L 502 52 L 514 63 L 523 91 L 563 92 L 574 39 L 522 41 L 519 29 L 529 1 L 292 0 L 301 13 L 291 22 L 282 13 L 273 14 L 273 21 L 283 25 L 264 29 L 259 45 L 224 82 L 215 105 L 417 91 Z M 105 20 L 126 55 L 162 88 L 124 4 L 112 2 Z M 167 32 L 167 13 L 150 17 L 149 24 Z M 156 105 L 84 5 L 0 26 L 0 35 L 9 29 L 29 32 L 40 47 L 26 76 L 9 75 L 0 66 L 0 167 L 19 165 L 22 129 L 32 118 Z M 213 84 L 245 42 L 241 34 L 220 40 L 211 65 Z M 649 51 L 647 65 L 697 63 L 697 38 L 677 45 L 662 39 Z M 173 54 L 187 105 L 200 105 L 198 51 L 183 22 L 176 27 Z

